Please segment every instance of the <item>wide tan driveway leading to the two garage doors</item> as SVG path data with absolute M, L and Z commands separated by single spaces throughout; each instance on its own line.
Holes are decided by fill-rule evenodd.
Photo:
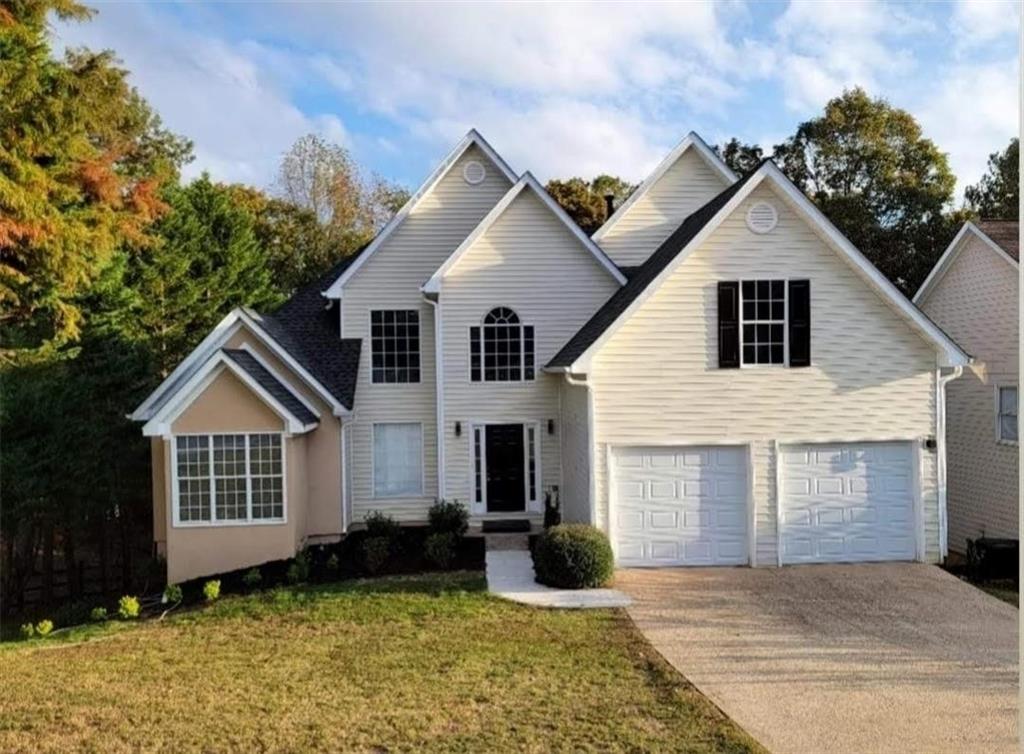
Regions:
M 934 566 L 626 570 L 615 586 L 777 754 L 1018 750 L 1017 610 Z

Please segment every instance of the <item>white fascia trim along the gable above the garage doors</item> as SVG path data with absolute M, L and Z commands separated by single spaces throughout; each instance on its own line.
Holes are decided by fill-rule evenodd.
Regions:
M 772 163 L 766 162 L 760 168 L 758 168 L 757 173 L 755 173 L 750 180 L 743 184 L 735 196 L 733 196 L 726 204 L 723 206 L 716 215 L 706 224 L 700 232 L 693 237 L 693 239 L 676 255 L 676 257 L 666 265 L 658 276 L 651 281 L 644 291 L 637 296 L 629 306 L 615 319 L 615 322 L 607 328 L 601 336 L 595 340 L 589 348 L 587 348 L 584 353 L 572 363 L 569 367 L 569 371 L 572 374 L 586 374 L 590 371 L 590 365 L 601 346 L 607 342 L 607 340 L 614 334 L 614 332 L 622 327 L 623 323 L 627 322 L 633 313 L 643 305 L 643 303 L 653 295 L 662 284 L 668 279 L 676 268 L 683 263 L 683 261 L 693 252 L 694 249 L 698 248 L 711 234 L 713 234 L 723 220 L 732 214 L 733 211 L 743 202 L 743 200 L 749 197 L 755 188 L 757 188 L 765 180 L 770 180 L 776 186 L 778 186 L 783 194 L 790 199 L 793 206 L 801 212 L 807 220 L 811 222 L 812 225 L 817 226 L 817 228 L 822 233 L 822 235 L 828 239 L 828 241 L 835 246 L 837 250 L 843 256 L 853 264 L 854 267 L 860 270 L 862 277 L 866 279 L 868 283 L 874 285 L 874 287 L 882 294 L 883 298 L 888 300 L 894 305 L 894 307 L 899 310 L 906 320 L 916 326 L 918 330 L 928 339 L 933 342 L 933 344 L 939 349 L 940 353 L 944 357 L 942 366 L 964 366 L 971 363 L 971 357 L 964 352 L 964 350 L 954 343 L 948 335 L 946 335 L 942 330 L 940 330 L 935 323 L 929 320 L 925 315 L 914 306 L 909 299 L 904 296 L 899 289 L 894 286 L 888 278 L 886 278 L 882 273 L 879 271 L 878 267 L 871 264 L 863 254 L 860 253 L 857 248 L 850 243 L 850 241 L 839 232 L 827 217 L 825 217 L 821 211 L 814 206 L 814 204 L 803 192 L 801 192 L 793 182 L 785 177 L 781 170 Z

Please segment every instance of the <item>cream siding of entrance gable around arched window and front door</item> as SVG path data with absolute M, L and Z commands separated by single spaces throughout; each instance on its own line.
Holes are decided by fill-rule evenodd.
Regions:
M 618 284 L 528 190 L 470 247 L 441 286 L 444 331 L 446 493 L 470 499 L 472 421 L 541 424 L 543 491 L 561 479 L 558 394 L 562 378 L 546 364 L 617 289 Z M 537 379 L 519 383 L 469 380 L 469 328 L 495 306 L 508 306 L 536 333 Z M 555 435 L 547 422 L 555 421 Z

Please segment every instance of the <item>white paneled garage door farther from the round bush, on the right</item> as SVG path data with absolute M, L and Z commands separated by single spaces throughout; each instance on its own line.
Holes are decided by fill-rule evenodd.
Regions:
M 909 443 L 782 446 L 782 562 L 914 559 Z

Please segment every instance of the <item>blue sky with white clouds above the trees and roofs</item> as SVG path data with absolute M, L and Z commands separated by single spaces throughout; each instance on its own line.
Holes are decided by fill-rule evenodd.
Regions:
M 87 0 L 88 2 L 88 0 Z M 948 153 L 957 194 L 1018 131 L 1019 10 L 948 3 L 89 3 L 188 175 L 272 186 L 315 131 L 415 187 L 470 127 L 542 180 L 639 180 L 689 130 L 772 144 L 860 85 Z

